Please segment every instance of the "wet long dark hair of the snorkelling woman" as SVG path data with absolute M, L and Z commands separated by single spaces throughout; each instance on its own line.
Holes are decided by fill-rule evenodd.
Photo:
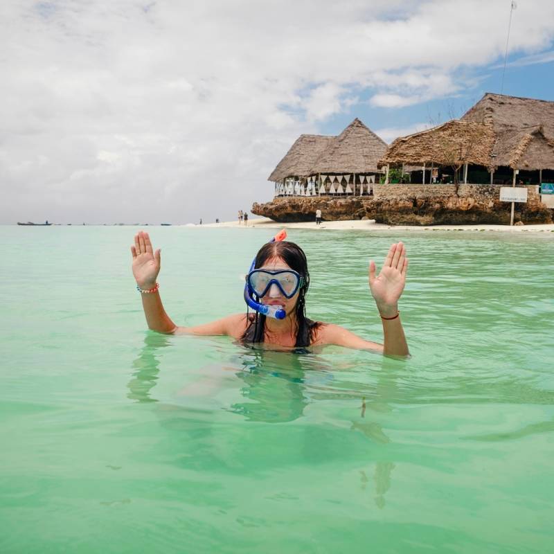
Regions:
M 295 346 L 310 346 L 314 341 L 316 330 L 322 325 L 321 321 L 311 321 L 306 317 L 305 296 L 310 287 L 310 273 L 307 270 L 306 255 L 294 242 L 281 240 L 267 242 L 256 254 L 254 267 L 262 265 L 271 258 L 281 258 L 291 269 L 294 269 L 302 277 L 301 287 L 298 289 L 298 300 L 294 311 L 296 312 L 296 344 Z M 247 312 L 248 314 L 248 312 Z M 256 312 L 249 316 L 250 324 L 242 334 L 244 342 L 263 342 L 265 338 L 265 316 Z

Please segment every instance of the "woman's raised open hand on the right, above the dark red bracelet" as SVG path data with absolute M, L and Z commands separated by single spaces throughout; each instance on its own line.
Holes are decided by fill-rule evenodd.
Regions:
M 392 317 L 398 312 L 398 298 L 406 285 L 408 258 L 404 243 L 393 244 L 388 250 L 383 267 L 375 276 L 375 262 L 369 262 L 369 288 L 379 313 L 384 317 Z

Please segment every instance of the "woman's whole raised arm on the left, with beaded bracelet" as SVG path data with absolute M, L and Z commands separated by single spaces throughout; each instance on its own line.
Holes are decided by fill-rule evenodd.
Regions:
M 133 275 L 136 284 L 142 290 L 156 289 L 154 292 L 141 293 L 143 310 L 148 328 L 153 331 L 167 334 L 227 334 L 235 339 L 242 337 L 246 329 L 245 314 L 233 314 L 211 323 L 196 325 L 195 327 L 179 327 L 173 323 L 161 303 L 156 280 L 160 272 L 161 252 L 154 252 L 148 233 L 140 231 L 134 237 L 134 246 L 131 247 L 133 256 Z

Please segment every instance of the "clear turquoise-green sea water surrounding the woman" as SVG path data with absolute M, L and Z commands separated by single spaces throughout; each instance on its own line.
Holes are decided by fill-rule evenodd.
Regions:
M 244 310 L 268 233 L 150 228 L 183 325 Z M 2 553 L 545 553 L 554 233 L 291 231 L 308 314 L 380 341 L 393 240 L 413 357 L 148 332 L 129 227 L 0 227 Z

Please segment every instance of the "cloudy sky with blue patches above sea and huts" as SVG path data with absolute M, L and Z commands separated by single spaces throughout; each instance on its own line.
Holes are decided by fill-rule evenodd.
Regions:
M 510 0 L 2 0 L 0 223 L 204 222 L 271 198 L 301 133 L 388 142 L 500 92 Z M 554 2 L 504 93 L 554 100 Z

